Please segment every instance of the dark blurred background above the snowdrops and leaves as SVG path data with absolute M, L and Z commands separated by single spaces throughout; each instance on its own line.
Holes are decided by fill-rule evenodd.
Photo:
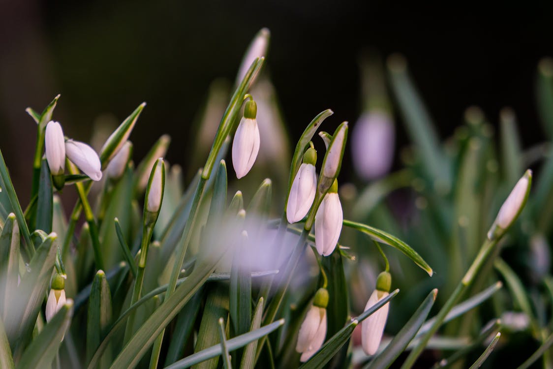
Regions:
M 54 118 L 88 141 L 92 122 L 122 121 L 146 101 L 132 141 L 142 158 L 163 133 L 167 155 L 186 168 L 190 124 L 218 77 L 233 81 L 262 27 L 272 32 L 267 70 L 291 138 L 332 108 L 328 130 L 361 113 L 358 56 L 399 52 L 442 137 L 479 105 L 494 125 L 511 106 L 523 143 L 541 141 L 534 81 L 553 54 L 553 2 L 496 7 L 389 1 L 9 1 L 0 0 L 0 147 L 24 203 L 35 123 L 61 93 Z M 397 119 L 400 121 L 399 118 Z M 325 123 L 327 124 L 327 123 Z M 398 147 L 407 143 L 401 126 Z

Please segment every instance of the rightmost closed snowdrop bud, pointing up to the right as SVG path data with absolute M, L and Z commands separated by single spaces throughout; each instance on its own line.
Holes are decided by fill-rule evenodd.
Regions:
M 497 217 L 493 222 L 492 228 L 488 231 L 488 238 L 490 240 L 493 240 L 494 237 L 503 234 L 503 232 L 507 230 L 511 224 L 513 224 L 515 219 L 517 219 L 524 207 L 526 199 L 528 198 L 531 182 L 532 171 L 528 169 L 518 180 L 507 200 L 505 200 L 503 205 L 501 205 Z

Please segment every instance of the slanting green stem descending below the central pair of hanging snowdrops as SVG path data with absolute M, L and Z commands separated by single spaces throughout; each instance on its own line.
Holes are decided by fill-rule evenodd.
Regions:
M 300 258 L 302 254 L 305 252 L 305 248 L 307 247 L 307 236 L 309 236 L 309 231 L 310 230 L 307 230 L 304 228 L 304 230 L 301 232 L 300 238 L 298 240 L 298 245 L 296 245 L 296 247 L 294 248 L 294 251 L 290 256 L 290 259 L 288 260 L 288 264 L 286 264 L 286 268 L 284 269 L 284 272 L 281 274 L 286 279 L 284 280 L 284 283 L 279 286 L 278 291 L 275 293 L 271 303 L 269 304 L 269 308 L 267 309 L 267 312 L 265 312 L 263 325 L 273 323 L 275 319 L 276 313 L 280 308 L 280 304 L 284 300 L 284 295 L 286 294 L 286 290 L 288 289 L 288 286 L 290 285 L 290 281 L 292 280 L 292 277 L 294 275 L 296 266 L 298 266 Z M 267 340 L 267 337 L 263 337 L 259 339 L 259 342 L 257 344 L 257 350 L 256 350 L 257 354 L 255 354 L 254 362 L 257 362 L 259 355 L 261 353 L 261 349 L 265 344 L 265 340 Z

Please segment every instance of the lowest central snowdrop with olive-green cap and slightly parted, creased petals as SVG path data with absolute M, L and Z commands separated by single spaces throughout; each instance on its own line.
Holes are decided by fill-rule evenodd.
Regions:
M 298 334 L 296 351 L 301 353 L 300 361 L 309 360 L 319 351 L 326 336 L 326 306 L 328 305 L 328 291 L 319 288 L 315 294 L 313 305 L 307 311 Z

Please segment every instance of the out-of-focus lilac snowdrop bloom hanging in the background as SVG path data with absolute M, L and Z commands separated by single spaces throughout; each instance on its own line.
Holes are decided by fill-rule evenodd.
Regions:
M 394 159 L 394 123 L 383 112 L 367 112 L 353 127 L 353 165 L 361 178 L 378 178 L 390 170 Z

